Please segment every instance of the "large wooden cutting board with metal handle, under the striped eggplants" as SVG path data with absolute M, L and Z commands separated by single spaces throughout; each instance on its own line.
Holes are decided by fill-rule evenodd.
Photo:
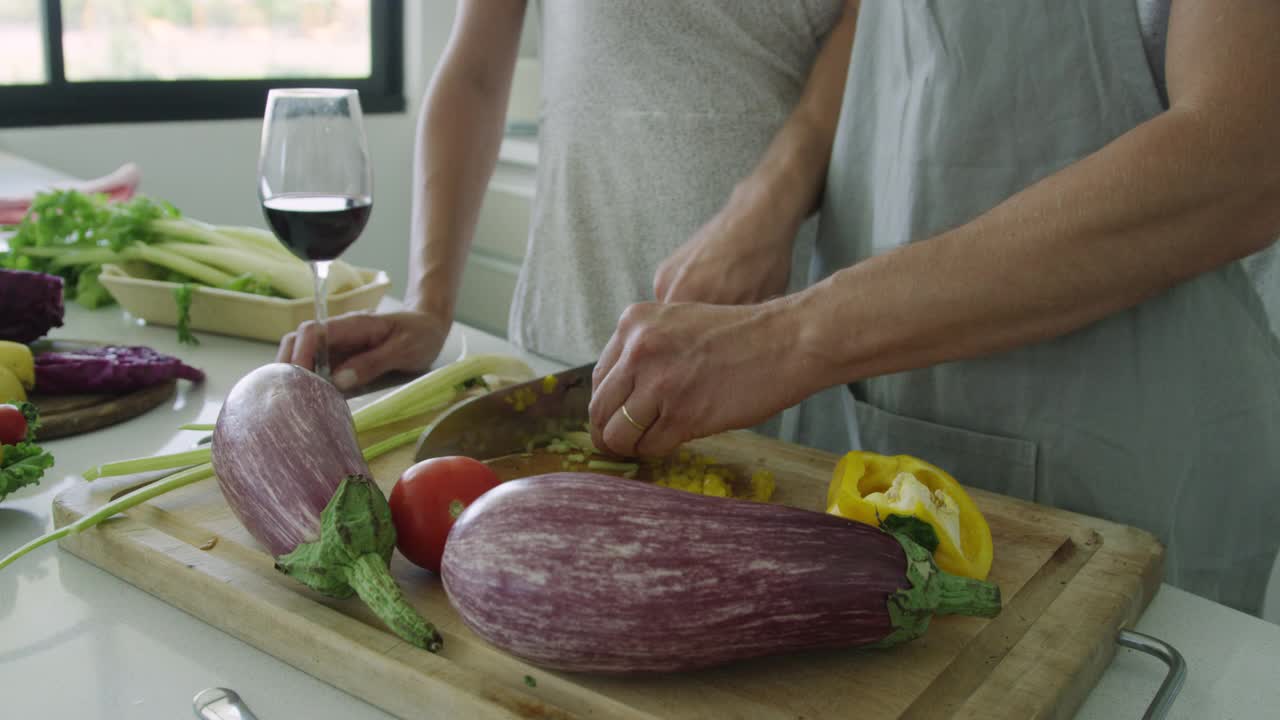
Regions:
M 741 470 L 768 468 L 774 501 L 818 510 L 836 457 L 726 433 L 690 443 Z M 104 459 L 105 460 L 105 459 Z M 412 446 L 371 468 L 389 492 Z M 54 502 L 61 527 L 137 479 L 73 488 Z M 527 665 L 472 634 L 438 578 L 397 553 L 392 570 L 444 635 L 431 655 L 387 632 L 358 600 L 325 598 L 274 570 L 212 480 L 137 507 L 63 547 L 316 678 L 401 717 L 818 719 L 1070 717 L 1161 582 L 1152 536 L 984 492 L 992 620 L 938 618 L 911 643 L 824 651 L 659 676 L 602 678 Z M 690 607 L 690 612 L 699 609 Z

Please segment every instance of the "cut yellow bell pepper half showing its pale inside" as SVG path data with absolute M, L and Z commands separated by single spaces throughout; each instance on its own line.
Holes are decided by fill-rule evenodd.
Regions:
M 938 536 L 938 568 L 978 580 L 991 571 L 987 519 L 955 478 L 918 457 L 846 454 L 827 489 L 827 512 L 876 527 L 890 515 L 918 518 Z

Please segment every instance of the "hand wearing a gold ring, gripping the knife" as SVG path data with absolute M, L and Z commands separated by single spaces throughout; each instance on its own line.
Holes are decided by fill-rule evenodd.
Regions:
M 797 331 L 785 300 L 630 306 L 595 365 L 591 441 L 659 456 L 790 407 L 818 389 Z

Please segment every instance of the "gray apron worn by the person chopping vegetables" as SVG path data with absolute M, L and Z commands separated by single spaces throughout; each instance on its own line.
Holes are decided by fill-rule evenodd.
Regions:
M 969 222 L 1161 111 L 1133 3 L 863 0 L 822 270 Z M 1144 528 L 1167 582 L 1260 614 L 1280 343 L 1239 263 L 1064 337 L 851 389 L 865 448 Z

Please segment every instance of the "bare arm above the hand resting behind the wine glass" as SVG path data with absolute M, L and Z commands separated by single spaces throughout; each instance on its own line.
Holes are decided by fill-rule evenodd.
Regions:
M 494 0 L 481 0 L 494 3 Z M 485 188 L 502 145 L 516 61 L 515 27 L 489 28 L 481 49 L 447 51 L 422 100 L 413 158 L 410 307 L 452 318 Z M 484 18 L 488 19 L 488 18 Z M 462 23 L 472 22 L 467 18 Z M 462 37 L 454 42 L 475 41 Z M 476 53 L 485 53 L 483 60 Z

